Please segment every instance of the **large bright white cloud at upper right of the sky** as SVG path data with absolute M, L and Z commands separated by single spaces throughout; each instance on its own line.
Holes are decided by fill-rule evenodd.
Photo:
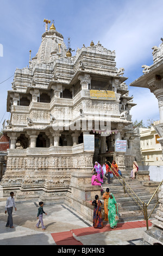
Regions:
M 102 41 L 110 50 L 116 51 L 117 65 L 129 68 L 147 56 L 152 60 L 152 47 L 160 44 L 163 30 L 162 1 L 129 1 Z M 150 55 L 151 54 L 151 55 Z M 151 63 L 152 64 L 152 63 Z

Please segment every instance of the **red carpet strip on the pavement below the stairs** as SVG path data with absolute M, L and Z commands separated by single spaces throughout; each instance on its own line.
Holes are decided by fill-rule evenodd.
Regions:
M 149 227 L 152 226 L 152 223 L 148 221 Z M 73 234 L 76 236 L 84 236 L 91 234 L 98 234 L 107 231 L 122 230 L 122 229 L 133 229 L 133 228 L 145 228 L 146 221 L 134 221 L 126 223 L 118 223 L 116 229 L 111 229 L 110 225 L 104 225 L 102 229 L 87 227 L 87 228 L 78 228 L 72 229 L 70 231 L 52 233 L 52 237 L 57 245 L 83 245 L 82 242 L 74 238 Z

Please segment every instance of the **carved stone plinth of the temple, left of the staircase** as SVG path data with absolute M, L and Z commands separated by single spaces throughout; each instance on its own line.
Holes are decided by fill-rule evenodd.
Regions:
M 83 178 L 83 182 L 91 184 L 93 153 L 83 152 L 83 144 L 76 145 L 75 150 L 74 147 L 58 146 L 9 149 L 8 153 L 7 170 L 1 186 L 4 191 L 15 190 L 20 200 L 25 197 L 27 200 L 39 198 L 43 191 L 52 193 L 52 200 L 55 198 L 54 194 L 58 200 L 61 191 L 62 196 L 66 197 L 66 193 L 71 192 L 71 174 L 77 170 L 78 173 L 84 173 L 83 177 L 89 173 L 89 177 Z M 77 186 L 79 182 L 81 183 L 78 178 L 74 180 Z M 35 191 L 34 195 L 32 191 Z

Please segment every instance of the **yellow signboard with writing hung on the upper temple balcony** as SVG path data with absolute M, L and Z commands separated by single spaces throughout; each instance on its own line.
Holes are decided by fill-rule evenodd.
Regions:
M 94 100 L 116 100 L 112 90 L 90 90 L 90 97 Z

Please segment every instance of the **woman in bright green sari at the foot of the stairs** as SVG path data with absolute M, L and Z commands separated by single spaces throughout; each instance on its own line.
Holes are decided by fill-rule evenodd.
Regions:
M 109 194 L 109 200 L 108 200 L 108 219 L 110 227 L 116 228 L 118 220 L 116 220 L 116 215 L 118 216 L 118 206 L 115 197 L 112 193 Z

